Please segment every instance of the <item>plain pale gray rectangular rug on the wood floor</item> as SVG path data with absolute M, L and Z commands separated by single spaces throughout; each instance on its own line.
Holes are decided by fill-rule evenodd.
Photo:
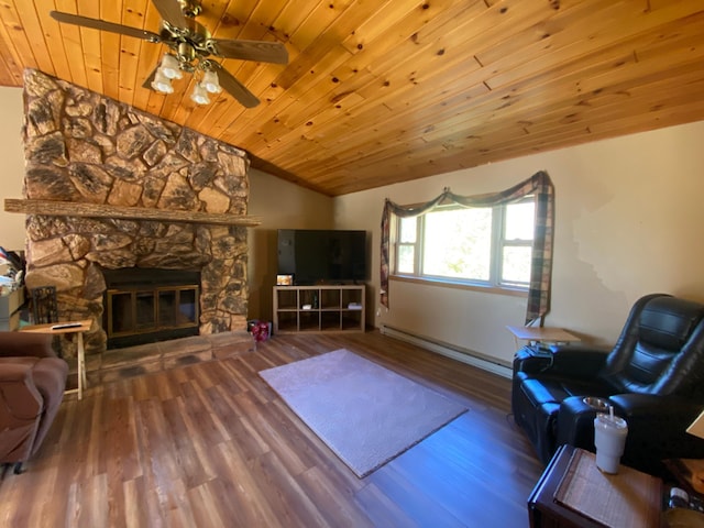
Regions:
M 344 349 L 260 376 L 359 477 L 468 410 Z

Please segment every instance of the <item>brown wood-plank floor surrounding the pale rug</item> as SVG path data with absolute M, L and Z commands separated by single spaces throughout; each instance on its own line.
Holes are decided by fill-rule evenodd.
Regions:
M 256 374 L 340 348 L 470 411 L 360 480 Z M 378 332 L 277 336 L 67 396 L 25 473 L 2 475 L 0 526 L 528 526 L 542 466 L 509 393 L 508 380 Z

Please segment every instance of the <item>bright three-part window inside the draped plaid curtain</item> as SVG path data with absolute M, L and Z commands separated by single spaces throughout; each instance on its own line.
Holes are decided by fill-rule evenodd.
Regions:
M 397 218 L 394 273 L 449 283 L 527 289 L 535 199 L 496 207 L 440 207 Z

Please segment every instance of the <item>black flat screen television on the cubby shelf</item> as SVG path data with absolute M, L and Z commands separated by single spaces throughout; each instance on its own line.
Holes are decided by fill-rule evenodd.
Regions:
M 279 229 L 278 274 L 299 286 L 366 280 L 366 231 Z

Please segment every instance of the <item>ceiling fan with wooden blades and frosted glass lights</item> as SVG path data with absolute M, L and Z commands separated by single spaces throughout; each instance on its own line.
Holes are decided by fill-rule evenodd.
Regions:
M 182 70 L 198 75 L 200 81 L 190 98 L 199 105 L 210 102 L 208 94 L 218 94 L 221 87 L 246 108 L 260 103 L 254 94 L 210 56 L 275 64 L 288 62 L 288 52 L 278 42 L 212 38 L 210 32 L 196 22 L 201 11 L 196 0 L 152 0 L 152 3 L 162 16 L 160 33 L 61 11 L 51 11 L 50 14 L 58 22 L 165 44 L 169 52 L 142 86 L 172 94 L 170 80 L 179 79 Z

